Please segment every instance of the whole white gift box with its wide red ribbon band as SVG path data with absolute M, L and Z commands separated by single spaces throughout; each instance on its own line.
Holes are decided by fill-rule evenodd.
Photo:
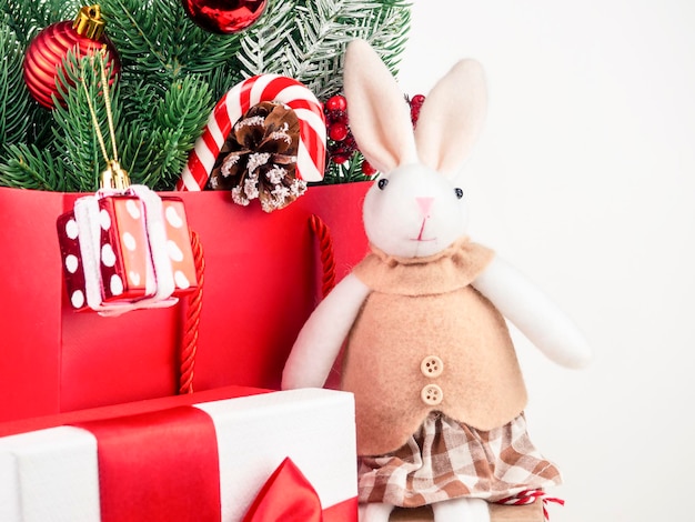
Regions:
M 33 430 L 47 422 L 59 425 Z M 325 522 L 357 520 L 344 392 L 230 387 L 0 424 L 0 434 L 3 522 L 256 520 L 244 516 L 286 459 Z M 286 484 L 282 499 L 302 496 Z

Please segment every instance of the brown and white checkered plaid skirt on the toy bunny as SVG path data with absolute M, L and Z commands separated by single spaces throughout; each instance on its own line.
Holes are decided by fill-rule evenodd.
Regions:
M 402 508 L 460 496 L 495 502 L 561 483 L 555 465 L 531 443 L 523 413 L 491 431 L 431 413 L 395 452 L 361 456 L 359 476 L 360 502 Z

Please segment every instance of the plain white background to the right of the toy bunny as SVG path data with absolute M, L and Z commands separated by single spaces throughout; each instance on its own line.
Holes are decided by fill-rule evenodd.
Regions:
M 490 90 L 471 235 L 595 351 L 566 370 L 515 334 L 532 439 L 565 476 L 551 519 L 694 520 L 695 3 L 414 0 L 403 90 L 464 57 Z

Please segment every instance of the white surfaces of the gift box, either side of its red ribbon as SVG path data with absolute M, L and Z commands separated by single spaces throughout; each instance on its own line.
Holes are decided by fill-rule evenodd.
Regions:
M 164 410 L 185 404 L 212 420 L 219 458 L 218 520 L 241 521 L 285 458 L 311 483 L 322 509 L 350 502 L 356 520 L 352 395 L 304 389 L 234 396 L 245 393 L 244 389 L 231 387 L 230 390 L 231 399 L 194 402 L 193 394 L 161 401 Z M 203 400 L 204 393 L 200 394 Z M 141 412 L 142 408 L 140 411 L 135 408 L 139 419 L 160 411 L 158 400 L 145 403 L 145 413 Z M 108 409 L 101 410 L 95 416 L 103 419 L 103 410 Z M 78 415 L 78 420 L 89 416 Z M 161 444 L 172 443 L 168 438 L 162 439 Z M 77 425 L 0 438 L 0 520 L 99 522 L 103 502 L 100 494 L 104 492 L 100 492 L 98 444 L 92 432 Z M 216 478 L 210 482 L 218 486 Z

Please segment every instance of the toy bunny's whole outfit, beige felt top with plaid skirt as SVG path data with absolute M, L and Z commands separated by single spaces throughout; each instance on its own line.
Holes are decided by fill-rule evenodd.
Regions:
M 372 249 L 342 389 L 355 395 L 360 501 L 490 502 L 560 483 L 531 443 L 504 318 L 471 282 L 493 252 L 462 239 L 430 258 Z

